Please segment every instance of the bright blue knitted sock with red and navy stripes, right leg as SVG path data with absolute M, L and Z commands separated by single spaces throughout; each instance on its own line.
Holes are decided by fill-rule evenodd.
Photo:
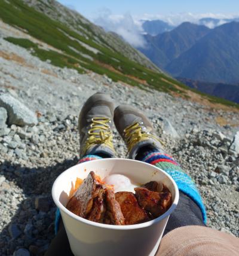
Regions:
M 189 196 L 192 200 L 194 200 L 195 203 L 197 203 L 197 205 L 201 209 L 203 221 L 206 224 L 206 208 L 203 204 L 200 193 L 197 190 L 194 181 L 192 181 L 189 175 L 183 172 L 179 163 L 174 161 L 173 158 L 168 156 L 167 154 L 160 153 L 157 150 L 146 152 L 142 157 L 141 161 L 149 164 L 154 164 L 158 168 L 163 169 L 165 172 L 167 172 L 174 179 L 179 190 Z

